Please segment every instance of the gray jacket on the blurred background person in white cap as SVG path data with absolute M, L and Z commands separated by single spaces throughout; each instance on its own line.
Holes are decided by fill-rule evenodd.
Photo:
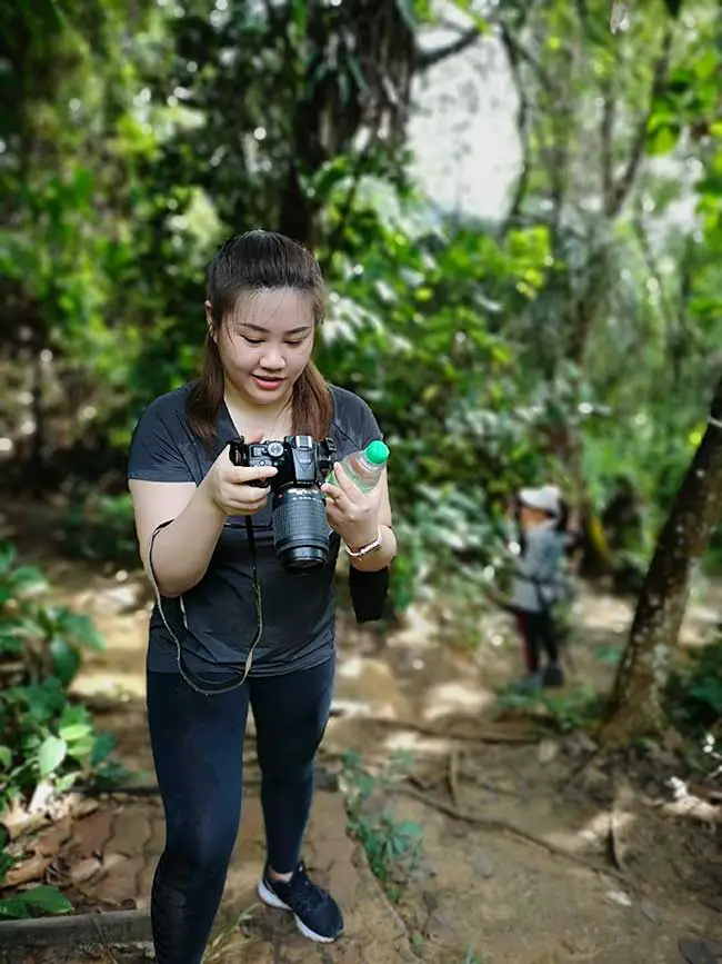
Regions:
M 511 605 L 517 609 L 540 613 L 543 604 L 553 604 L 559 594 L 564 534 L 554 525 L 542 523 L 529 529 L 524 555 L 514 557 Z

